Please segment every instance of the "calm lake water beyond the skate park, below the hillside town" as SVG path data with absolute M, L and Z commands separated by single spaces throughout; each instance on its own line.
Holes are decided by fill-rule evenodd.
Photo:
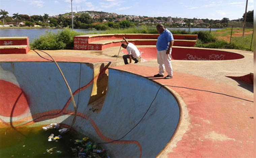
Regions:
M 189 28 L 168 28 L 169 30 L 186 30 Z M 38 38 L 40 35 L 44 34 L 45 31 L 52 31 L 57 33 L 63 29 L 1 29 L 0 37 L 29 37 L 29 41 L 32 42 L 35 38 Z M 102 32 L 88 29 L 74 29 L 77 32 Z M 190 28 L 190 31 L 210 31 L 209 28 Z M 212 31 L 220 30 L 220 29 L 212 29 Z M 104 32 L 104 31 L 103 31 Z

